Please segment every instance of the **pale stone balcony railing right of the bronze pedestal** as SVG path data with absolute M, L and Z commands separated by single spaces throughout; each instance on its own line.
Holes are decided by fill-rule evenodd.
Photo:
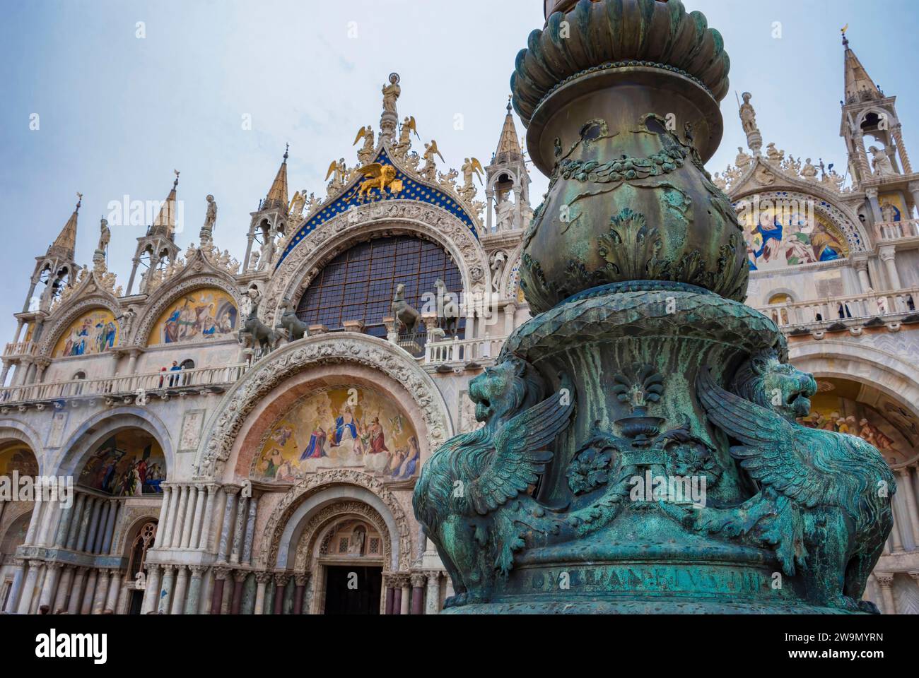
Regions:
M 919 288 L 899 292 L 872 292 L 851 297 L 831 297 L 810 301 L 789 301 L 757 308 L 779 327 L 829 325 L 834 322 L 870 320 L 916 312 Z

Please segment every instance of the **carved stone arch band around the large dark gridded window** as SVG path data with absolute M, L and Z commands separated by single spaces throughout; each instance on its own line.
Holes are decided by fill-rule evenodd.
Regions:
M 488 255 L 469 226 L 445 209 L 414 200 L 386 200 L 347 210 L 294 247 L 271 277 L 261 306 L 262 320 L 270 324 L 280 317 L 284 299 L 300 299 L 325 263 L 348 247 L 381 233 L 415 234 L 441 245 L 459 267 L 463 289 L 485 289 Z

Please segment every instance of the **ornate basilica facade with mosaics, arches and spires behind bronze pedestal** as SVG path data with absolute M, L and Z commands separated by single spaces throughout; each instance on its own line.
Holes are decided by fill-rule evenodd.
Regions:
M 747 304 L 818 379 L 804 423 L 863 437 L 898 474 L 867 595 L 909 614 L 919 175 L 895 97 L 844 43 L 847 169 L 764 148 L 748 93 L 748 148 L 714 181 L 747 233 Z M 392 73 L 379 128 L 358 132 L 353 166 L 330 164 L 323 197 L 290 195 L 284 153 L 240 260 L 217 245 L 217 188 L 198 242 L 176 242 L 176 173 L 123 289 L 106 220 L 92 265 L 75 261 L 77 203 L 36 259 L 3 356 L 0 476 L 41 486 L 0 503 L 5 612 L 441 609 L 452 584 L 414 519 L 414 483 L 480 425 L 469 382 L 530 317 L 519 266 L 533 209 L 509 106 L 491 160 L 449 170 L 399 111 L 400 87 Z M 72 501 L 44 492 L 60 479 Z

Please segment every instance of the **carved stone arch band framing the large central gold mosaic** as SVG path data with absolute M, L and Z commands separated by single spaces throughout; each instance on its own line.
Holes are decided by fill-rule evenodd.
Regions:
M 223 396 L 199 446 L 197 476 L 213 479 L 221 475 L 245 418 L 278 384 L 312 366 L 341 363 L 371 367 L 401 383 L 422 413 L 428 449 L 437 448 L 452 435 L 453 426 L 437 386 L 403 349 L 366 334 L 316 335 L 263 358 Z

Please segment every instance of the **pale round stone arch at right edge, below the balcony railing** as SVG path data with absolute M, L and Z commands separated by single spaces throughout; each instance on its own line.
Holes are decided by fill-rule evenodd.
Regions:
M 857 355 L 855 353 L 857 349 Z M 901 404 L 919 418 L 919 374 L 898 356 L 870 346 L 843 341 L 795 342 L 789 346 L 789 362 L 817 378 L 861 381 Z M 919 455 L 900 466 L 913 464 Z

